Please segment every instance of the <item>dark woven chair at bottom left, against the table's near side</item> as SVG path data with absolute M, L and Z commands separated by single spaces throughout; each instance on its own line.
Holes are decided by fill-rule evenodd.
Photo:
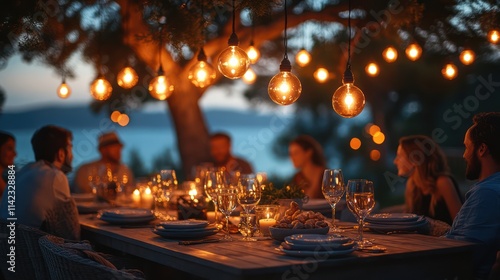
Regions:
M 118 270 L 102 264 L 97 252 L 92 252 L 92 259 L 85 257 L 91 253 L 88 250 L 74 250 L 64 244 L 62 238 L 44 236 L 39 239 L 40 248 L 53 280 L 110 280 L 110 279 L 144 279 L 144 274 L 138 270 Z M 84 253 L 82 255 L 82 252 Z M 101 260 L 102 261 L 102 260 Z

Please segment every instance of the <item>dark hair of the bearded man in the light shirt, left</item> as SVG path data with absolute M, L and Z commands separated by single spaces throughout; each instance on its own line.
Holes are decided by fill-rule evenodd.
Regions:
M 31 137 L 35 160 L 54 162 L 59 149 L 66 149 L 68 139 L 72 138 L 71 131 L 62 127 L 47 125 L 38 129 Z

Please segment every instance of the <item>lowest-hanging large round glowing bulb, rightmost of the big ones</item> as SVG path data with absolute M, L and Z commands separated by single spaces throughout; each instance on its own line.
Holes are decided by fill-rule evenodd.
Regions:
M 353 83 L 345 83 L 333 94 L 332 107 L 344 118 L 355 117 L 365 107 L 365 95 Z

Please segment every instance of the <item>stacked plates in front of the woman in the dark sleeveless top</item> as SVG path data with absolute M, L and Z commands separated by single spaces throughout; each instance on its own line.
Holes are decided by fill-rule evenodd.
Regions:
M 429 222 L 424 216 L 407 213 L 381 213 L 366 217 L 366 227 L 380 232 L 416 231 L 427 228 Z

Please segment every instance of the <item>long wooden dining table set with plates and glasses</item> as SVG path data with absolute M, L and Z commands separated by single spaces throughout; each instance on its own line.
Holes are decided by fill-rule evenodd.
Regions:
M 243 242 L 239 234 L 236 241 L 185 246 L 151 227 L 111 225 L 95 214 L 80 215 L 80 225 L 82 238 L 94 244 L 206 279 L 473 279 L 473 244 L 422 234 L 366 232 L 387 250 L 292 257 L 277 249 L 278 241 Z M 351 226 L 343 234 L 355 237 Z

